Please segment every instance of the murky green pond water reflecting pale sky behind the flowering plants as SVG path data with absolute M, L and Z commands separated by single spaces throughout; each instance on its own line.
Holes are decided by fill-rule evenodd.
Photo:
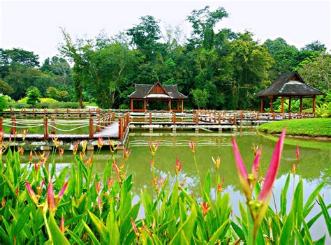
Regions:
M 163 178 L 168 176 L 170 184 L 173 184 L 175 182 L 173 165 L 175 165 L 175 158 L 177 157 L 183 164 L 182 170 L 179 173 L 179 181 L 187 177 L 185 186 L 189 189 L 189 192 L 198 197 L 199 179 L 204 181 L 205 175 L 209 171 L 212 175 L 213 184 L 215 184 L 216 175 L 219 175 L 221 179 L 224 179 L 224 191 L 230 193 L 230 202 L 233 205 L 234 214 L 239 216 L 238 201 L 240 200 L 244 202 L 244 196 L 240 189 L 233 149 L 230 144 L 230 140 L 234 136 L 249 172 L 254 158 L 251 147 L 253 147 L 253 145 L 262 147 L 263 153 L 261 155 L 260 164 L 264 176 L 270 163 L 276 142 L 274 141 L 274 138 L 258 135 L 255 131 L 245 131 L 236 134 L 196 134 L 191 132 L 131 133 L 128 148 L 132 149 L 132 153 L 127 165 L 128 174 L 133 175 L 133 192 L 137 195 L 135 201 L 138 201 L 138 195 L 143 188 L 147 188 L 152 193 L 152 171 L 150 167 L 152 156 L 149 151 L 148 142 L 159 142 L 160 147 L 156 151 L 154 165 L 156 176 L 159 175 Z M 191 140 L 195 143 L 196 160 L 198 162 L 200 176 L 196 173 L 193 155 L 189 147 L 189 141 Z M 318 186 L 318 184 L 325 181 L 325 186 L 322 189 L 321 194 L 324 194 L 325 203 L 328 205 L 331 202 L 331 142 L 323 142 L 321 143 L 321 147 L 318 147 L 318 142 L 309 143 L 307 140 L 301 142 L 300 164 L 297 166 L 297 172 L 300 172 L 304 182 L 304 201 L 307 200 L 310 193 L 316 188 L 316 186 Z M 274 186 L 274 196 L 276 198 L 278 210 L 280 209 L 279 198 L 281 188 L 284 186 L 286 175 L 288 172 L 291 172 L 293 163 L 297 163 L 295 156 L 296 144 L 300 144 L 300 140 L 295 140 L 295 143 L 291 142 L 291 140 L 286 140 L 284 144 L 281 165 Z M 88 154 L 90 154 L 90 152 Z M 115 154 L 119 165 L 124 163 L 122 154 L 121 151 Z M 221 164 L 218 172 L 214 169 L 212 156 L 214 156 L 214 158 L 217 156 L 221 157 Z M 24 156 L 25 161 L 28 161 L 28 158 L 28 155 Z M 94 157 L 96 172 L 99 174 L 103 173 L 103 168 L 109 158 L 110 151 L 107 149 L 102 150 L 100 154 Z M 57 172 L 62 168 L 66 168 L 66 166 L 69 166 L 70 168 L 69 163 L 71 163 L 72 160 L 73 157 L 70 151 L 67 151 L 62 158 L 56 158 Z M 296 176 L 294 181 L 295 184 L 297 184 L 299 177 Z M 291 179 L 288 188 L 288 209 L 290 209 L 292 195 L 293 179 Z M 274 207 L 274 202 L 271 202 L 271 205 Z M 312 214 L 317 214 L 319 211 L 321 211 L 321 208 L 316 205 Z M 323 218 L 319 218 L 311 228 L 311 232 L 316 239 L 322 237 L 324 234 L 328 234 L 324 222 Z M 328 235 L 326 236 L 328 237 Z M 330 239 L 328 239 L 328 242 L 330 242 Z

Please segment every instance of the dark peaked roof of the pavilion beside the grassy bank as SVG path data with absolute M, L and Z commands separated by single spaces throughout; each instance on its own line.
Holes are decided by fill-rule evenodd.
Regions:
M 324 94 L 323 91 L 315 89 L 306 84 L 296 71 L 283 73 L 267 88 L 258 92 L 256 96 L 314 96 Z

